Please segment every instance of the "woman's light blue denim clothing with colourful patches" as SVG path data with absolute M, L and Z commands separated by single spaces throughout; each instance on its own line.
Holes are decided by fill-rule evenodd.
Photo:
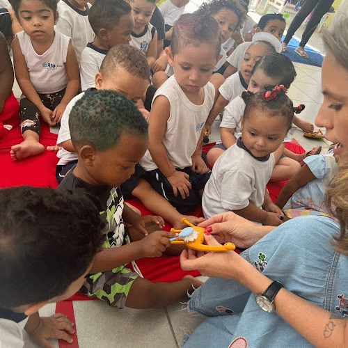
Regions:
M 241 255 L 287 290 L 348 317 L 348 256 L 329 243 L 338 232 L 338 223 L 327 217 L 297 217 Z M 184 339 L 184 347 L 312 347 L 276 313 L 264 312 L 255 295 L 234 280 L 209 278 L 193 292 L 189 310 L 211 318 Z

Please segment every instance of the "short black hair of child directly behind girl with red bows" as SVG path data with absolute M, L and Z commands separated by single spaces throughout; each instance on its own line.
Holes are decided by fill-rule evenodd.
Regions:
M 279 77 L 278 84 L 286 88 L 290 87 L 296 77 L 294 64 L 284 54 L 271 53 L 261 57 L 251 70 L 251 76 L 257 69 L 261 69 L 269 77 Z

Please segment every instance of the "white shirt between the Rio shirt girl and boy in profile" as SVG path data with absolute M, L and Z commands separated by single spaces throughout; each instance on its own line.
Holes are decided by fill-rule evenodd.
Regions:
M 81 53 L 94 38 L 93 29 L 88 22 L 90 3 L 86 4 L 86 10 L 79 10 L 72 6 L 68 0 L 60 0 L 57 3 L 58 22 L 56 30 L 72 38 L 72 45 L 80 62 Z

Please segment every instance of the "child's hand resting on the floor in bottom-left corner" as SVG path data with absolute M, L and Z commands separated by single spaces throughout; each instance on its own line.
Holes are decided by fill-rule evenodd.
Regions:
M 68 333 L 65 331 L 68 331 Z M 72 343 L 70 335 L 74 332 L 74 324 L 70 322 L 65 315 L 58 313 L 51 317 L 40 317 L 38 327 L 28 332 L 28 335 L 31 340 L 40 345 L 40 347 L 54 348 L 54 346 L 49 343 L 49 338 L 56 338 Z

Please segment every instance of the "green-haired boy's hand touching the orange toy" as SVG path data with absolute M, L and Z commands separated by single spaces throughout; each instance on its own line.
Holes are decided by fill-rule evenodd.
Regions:
M 169 238 L 174 237 L 173 233 L 167 231 L 155 231 L 141 239 L 142 255 L 144 258 L 159 258 L 171 246 Z

